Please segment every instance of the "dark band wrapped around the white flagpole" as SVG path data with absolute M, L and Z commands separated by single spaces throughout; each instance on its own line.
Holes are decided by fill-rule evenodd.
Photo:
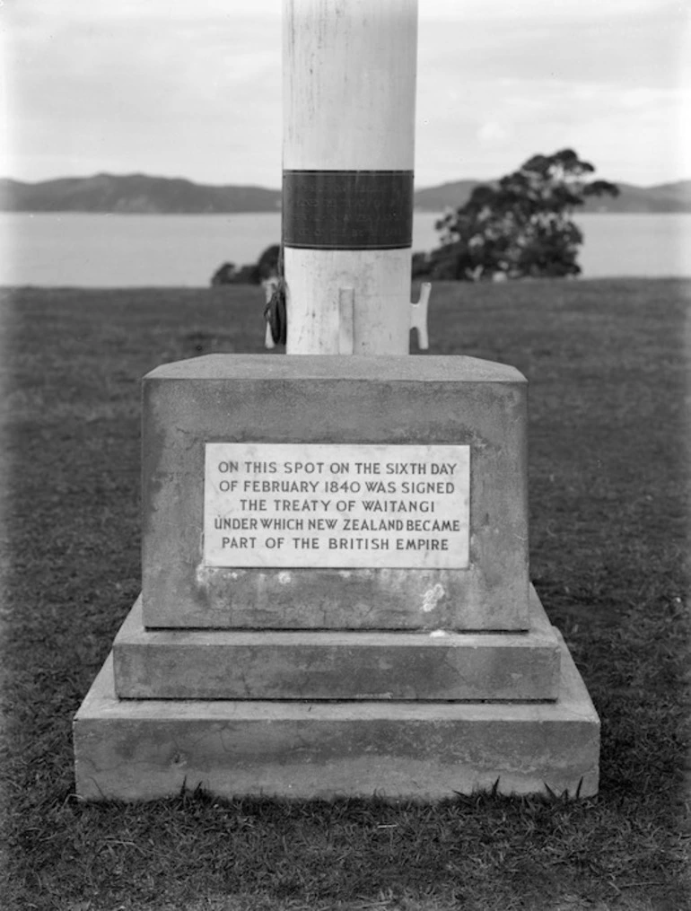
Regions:
M 308 250 L 412 246 L 412 171 L 283 171 L 283 245 Z

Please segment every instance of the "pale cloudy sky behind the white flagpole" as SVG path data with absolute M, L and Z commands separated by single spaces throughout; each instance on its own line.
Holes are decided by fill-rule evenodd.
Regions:
M 0 0 L 0 175 L 278 188 L 281 8 Z M 691 179 L 691 0 L 419 0 L 417 80 L 417 187 L 560 148 L 604 179 Z

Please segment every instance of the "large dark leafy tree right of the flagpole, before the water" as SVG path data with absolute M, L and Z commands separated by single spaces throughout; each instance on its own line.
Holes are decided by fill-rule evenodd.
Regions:
M 442 246 L 418 275 L 478 281 L 578 275 L 576 262 L 583 234 L 572 216 L 590 196 L 617 196 L 606 180 L 588 180 L 594 167 L 571 148 L 554 155 L 533 155 L 494 186 L 480 185 L 458 210 L 436 222 Z M 416 254 L 417 255 L 417 254 Z

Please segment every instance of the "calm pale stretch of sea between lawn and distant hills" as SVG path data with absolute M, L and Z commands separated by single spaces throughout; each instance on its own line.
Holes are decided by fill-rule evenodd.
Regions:
M 439 215 L 416 212 L 414 251 L 439 246 Z M 691 277 L 691 214 L 579 215 L 584 278 Z M 205 287 L 223 262 L 257 261 L 280 215 L 0 212 L 0 284 Z

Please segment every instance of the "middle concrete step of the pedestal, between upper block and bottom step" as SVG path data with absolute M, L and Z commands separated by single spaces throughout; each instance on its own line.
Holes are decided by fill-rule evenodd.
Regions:
M 532 589 L 531 630 L 145 630 L 113 645 L 127 699 L 554 700 L 559 642 Z

